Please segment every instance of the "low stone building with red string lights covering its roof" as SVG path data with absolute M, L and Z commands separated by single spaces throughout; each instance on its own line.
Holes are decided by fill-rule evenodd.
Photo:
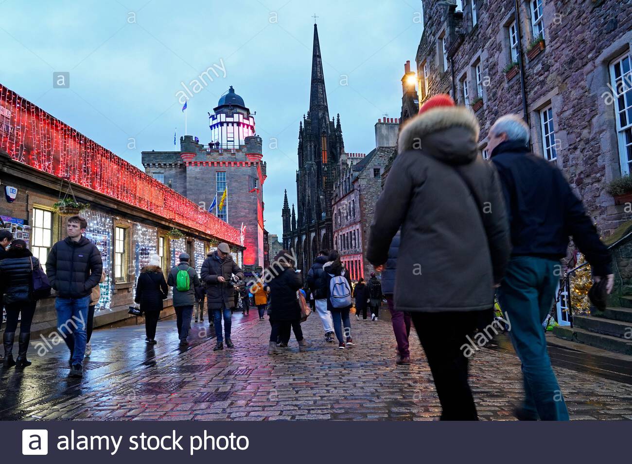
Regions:
M 42 266 L 52 245 L 66 237 L 71 215 L 55 204 L 68 194 L 84 205 L 77 211 L 88 222 L 85 237 L 99 249 L 106 271 L 95 327 L 130 318 L 135 283 L 151 254 L 161 257 L 166 272 L 186 252 L 199 272 L 206 253 L 224 241 L 242 262 L 238 230 L 3 85 L 0 181 L 15 192 L 0 200 L 0 227 L 25 240 Z M 33 338 L 54 333 L 54 303 L 54 291 L 37 302 Z M 161 314 L 173 312 L 169 295 Z

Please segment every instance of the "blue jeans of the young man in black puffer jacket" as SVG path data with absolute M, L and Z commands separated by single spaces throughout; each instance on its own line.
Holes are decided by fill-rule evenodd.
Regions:
M 88 306 L 90 306 L 90 295 L 82 298 L 57 297 L 55 299 L 57 330 L 68 345 L 73 366 L 83 362 L 87 342 Z

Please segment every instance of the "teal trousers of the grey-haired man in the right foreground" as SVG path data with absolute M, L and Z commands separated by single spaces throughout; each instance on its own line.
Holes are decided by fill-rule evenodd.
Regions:
M 553 305 L 559 265 L 553 259 L 514 256 L 498 290 L 501 310 L 509 318 L 509 337 L 522 362 L 523 408 L 532 419 L 569 419 L 542 327 Z

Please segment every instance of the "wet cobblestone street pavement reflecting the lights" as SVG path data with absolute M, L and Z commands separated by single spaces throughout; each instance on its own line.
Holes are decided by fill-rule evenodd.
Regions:
M 267 317 L 267 316 L 266 316 Z M 326 343 L 316 315 L 303 324 L 314 345 L 299 353 L 293 336 L 267 355 L 270 325 L 256 314 L 233 316 L 235 349 L 213 352 L 200 334 L 177 348 L 173 321 L 159 324 L 155 348 L 142 328 L 95 331 L 82 380 L 66 378 L 65 348 L 25 372 L 3 372 L 3 419 L 68 420 L 432 420 L 441 410 L 423 350 L 411 333 L 410 366 L 395 364 L 389 321 L 352 318 L 356 347 Z M 193 324 L 193 331 L 202 328 Z M 195 337 L 194 337 L 195 338 Z M 125 354 L 128 350 L 129 354 Z M 155 350 L 155 351 L 154 351 Z M 114 367 L 112 367 L 114 366 Z M 35 369 L 33 369 L 35 367 Z M 556 367 L 571 419 L 632 419 L 632 386 Z M 480 418 L 514 420 L 522 395 L 520 363 L 507 350 L 483 348 L 471 362 Z

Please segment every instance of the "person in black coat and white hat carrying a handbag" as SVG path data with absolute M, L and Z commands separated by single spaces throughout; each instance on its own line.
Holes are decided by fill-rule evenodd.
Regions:
M 134 301 L 140 304 L 140 311 L 145 314 L 145 342 L 155 345 L 156 326 L 162 311 L 162 300 L 169 294 L 169 287 L 164 280 L 160 267 L 160 256 L 152 255 L 149 265 L 140 270 L 136 283 Z

